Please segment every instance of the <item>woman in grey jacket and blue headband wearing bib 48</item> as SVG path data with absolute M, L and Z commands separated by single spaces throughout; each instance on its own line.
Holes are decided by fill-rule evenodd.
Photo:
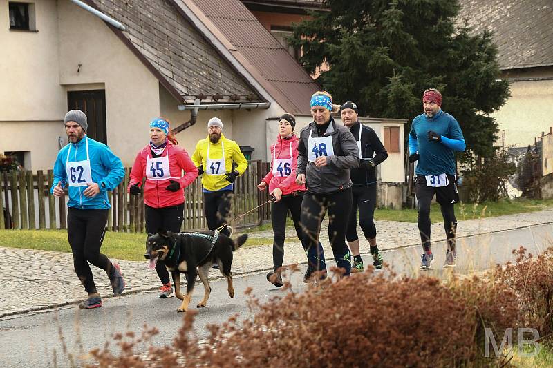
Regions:
M 346 244 L 346 228 L 351 211 L 350 168 L 359 166 L 359 150 L 348 128 L 336 124 L 330 116 L 337 112 L 327 92 L 311 97 L 311 115 L 314 119 L 299 133 L 296 182 L 306 184 L 303 196 L 301 225 L 303 244 L 308 255 L 308 271 L 304 281 L 309 282 L 315 271 L 326 272 L 324 255 L 317 254 L 319 231 L 328 212 L 328 239 L 337 267 L 344 275 L 351 270 L 351 255 Z

